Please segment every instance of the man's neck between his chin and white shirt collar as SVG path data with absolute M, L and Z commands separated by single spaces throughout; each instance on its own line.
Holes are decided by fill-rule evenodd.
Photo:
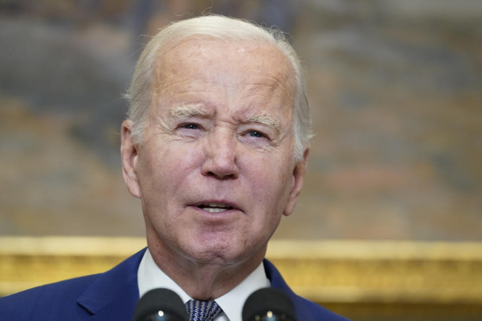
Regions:
M 266 254 L 265 245 L 241 262 L 204 263 L 170 251 L 159 239 L 148 238 L 148 246 L 156 265 L 197 300 L 212 300 L 229 292 L 260 265 Z

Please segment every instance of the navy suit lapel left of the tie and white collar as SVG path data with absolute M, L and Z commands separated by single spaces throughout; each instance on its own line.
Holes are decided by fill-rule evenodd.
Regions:
M 137 270 L 146 249 L 99 274 L 77 299 L 88 320 L 131 320 L 139 300 Z

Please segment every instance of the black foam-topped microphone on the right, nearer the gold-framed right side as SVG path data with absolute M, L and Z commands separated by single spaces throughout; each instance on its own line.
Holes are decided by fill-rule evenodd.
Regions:
M 288 295 L 274 287 L 253 292 L 243 306 L 243 321 L 296 321 Z

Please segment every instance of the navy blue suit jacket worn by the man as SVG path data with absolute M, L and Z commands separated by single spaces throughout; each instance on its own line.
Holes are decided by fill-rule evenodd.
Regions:
M 132 321 L 139 300 L 137 270 L 144 251 L 104 273 L 47 284 L 0 298 L 0 320 Z M 299 321 L 347 320 L 296 295 L 273 264 L 265 259 L 264 265 L 271 286 L 291 298 Z

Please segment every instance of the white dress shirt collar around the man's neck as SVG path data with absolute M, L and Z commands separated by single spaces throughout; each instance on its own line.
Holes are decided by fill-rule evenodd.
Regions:
M 139 286 L 139 296 L 142 297 L 147 291 L 163 287 L 176 292 L 184 303 L 191 297 L 167 276 L 154 262 L 154 259 L 146 250 L 142 257 L 141 264 L 137 270 L 137 282 Z M 254 291 L 270 286 L 270 280 L 266 277 L 263 262 L 241 283 L 232 290 L 216 298 L 215 301 L 222 308 L 222 313 L 214 321 L 242 321 L 241 313 L 243 304 L 248 296 Z

